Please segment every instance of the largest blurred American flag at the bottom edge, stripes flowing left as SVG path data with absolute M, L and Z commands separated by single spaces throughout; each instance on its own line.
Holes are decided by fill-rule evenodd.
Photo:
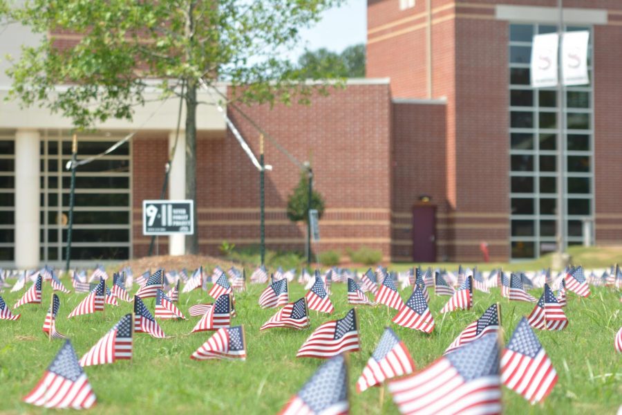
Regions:
M 402 414 L 500 414 L 497 336 L 487 334 L 423 371 L 390 380 Z

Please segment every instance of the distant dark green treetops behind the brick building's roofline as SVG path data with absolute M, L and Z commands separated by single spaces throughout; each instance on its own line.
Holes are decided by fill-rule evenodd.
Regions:
M 301 75 L 311 79 L 321 77 L 364 77 L 365 45 L 348 46 L 341 53 L 326 48 L 307 50 L 298 58 Z

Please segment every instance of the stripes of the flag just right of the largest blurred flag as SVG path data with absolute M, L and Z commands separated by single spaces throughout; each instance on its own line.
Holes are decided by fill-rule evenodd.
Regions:
M 557 383 L 557 372 L 544 349 L 540 349 L 533 359 L 505 349 L 501 371 L 504 385 L 525 396 L 531 403 L 545 398 Z

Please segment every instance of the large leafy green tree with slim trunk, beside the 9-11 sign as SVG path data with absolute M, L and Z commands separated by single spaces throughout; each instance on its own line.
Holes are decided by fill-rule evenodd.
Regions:
M 280 52 L 299 43 L 299 28 L 342 1 L 31 0 L 7 6 L 12 2 L 0 0 L 0 17 L 43 35 L 9 69 L 9 96 L 61 113 L 77 131 L 109 118 L 131 120 L 149 88 L 163 98 L 180 97 L 186 107 L 186 197 L 196 200 L 201 84 L 215 90 L 228 82 L 228 99 L 248 104 L 308 102 L 316 87 L 299 82 L 301 72 Z M 59 47 L 55 33 L 78 36 L 75 44 Z M 198 253 L 198 232 L 189 237 L 187 252 Z

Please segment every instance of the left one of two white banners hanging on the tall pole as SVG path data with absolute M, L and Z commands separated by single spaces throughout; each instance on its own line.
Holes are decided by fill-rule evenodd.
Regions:
M 534 36 L 531 47 L 531 87 L 557 85 L 557 33 Z

